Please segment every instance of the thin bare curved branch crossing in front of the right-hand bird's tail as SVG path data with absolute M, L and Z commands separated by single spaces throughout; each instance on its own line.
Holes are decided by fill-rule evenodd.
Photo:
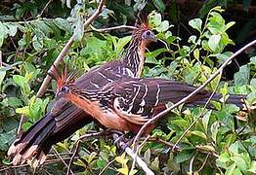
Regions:
M 215 79 L 222 71 L 223 69 L 230 63 L 232 62 L 232 60 L 235 58 L 236 55 L 238 55 L 239 53 L 242 53 L 244 50 L 246 50 L 247 48 L 253 46 L 256 44 L 256 40 L 250 42 L 249 44 L 245 45 L 244 47 L 242 47 L 240 50 L 238 50 L 236 53 L 234 53 L 232 56 L 229 57 L 229 59 L 227 59 L 222 66 L 214 73 L 210 76 L 210 78 L 200 87 L 196 88 L 195 90 L 192 91 L 192 93 L 190 93 L 186 98 L 183 98 L 182 100 L 180 100 L 179 102 L 175 103 L 174 105 L 172 105 L 171 107 L 167 108 L 166 110 L 162 111 L 161 113 L 157 114 L 156 116 L 154 116 L 153 118 L 151 118 L 147 123 L 145 123 L 141 129 L 139 130 L 138 134 L 136 135 L 135 139 L 134 139 L 134 148 L 133 150 L 135 150 L 136 148 L 136 143 L 137 140 L 141 137 L 141 135 L 144 133 L 145 129 L 149 126 L 150 123 L 155 123 L 156 121 L 158 121 L 162 116 L 166 115 L 167 113 L 169 113 L 171 110 L 173 110 L 174 108 L 180 106 L 181 104 L 185 103 L 186 101 L 188 101 L 190 98 L 192 98 L 192 96 L 194 96 L 197 92 L 199 92 L 200 90 L 202 90 L 203 88 L 205 88 L 213 79 Z

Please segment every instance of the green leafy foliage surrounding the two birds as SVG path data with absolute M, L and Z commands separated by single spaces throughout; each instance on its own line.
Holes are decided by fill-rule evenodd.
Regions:
M 36 98 L 35 93 L 72 34 L 75 43 L 64 61 L 70 69 L 78 69 L 80 73 L 120 57 L 130 41 L 127 34 L 90 32 L 91 29 L 82 27 L 83 21 L 97 8 L 94 1 L 51 2 L 52 7 L 46 8 L 49 11 L 42 12 L 47 2 L 33 0 L 16 3 L 8 14 L 9 18 L 1 14 L 0 47 L 5 64 L 0 67 L 0 170 L 1 166 L 11 166 L 6 152 L 15 139 L 21 115 L 27 118 L 22 124 L 23 129 L 27 129 L 51 109 L 55 83 L 44 97 Z M 123 5 L 119 1 L 109 2 L 101 18 L 93 25 L 100 28 L 134 23 L 136 12 L 148 10 L 149 25 L 165 44 L 158 42 L 158 46 L 146 54 L 144 76 L 164 77 L 199 86 L 232 54 L 227 47 L 235 45 L 229 34 L 235 21 L 226 21 L 223 8 L 216 6 L 224 1 L 218 1 L 214 6 L 211 2 L 204 4 L 200 18 L 190 18 L 186 24 L 190 31 L 187 37 L 177 34 L 175 21 L 168 20 L 174 18 L 173 11 L 168 11 L 162 0 L 150 3 L 144 0 L 125 1 Z M 54 7 L 55 11 L 52 10 Z M 169 14 L 164 16 L 166 11 Z M 214 109 L 179 107 L 152 131 L 153 137 L 170 144 L 175 144 L 186 134 L 178 144 L 178 152 L 172 152 L 169 146 L 162 143 L 146 142 L 139 155 L 150 169 L 157 174 L 256 173 L 254 116 L 247 116 L 247 122 L 237 121 L 237 107 L 225 104 L 230 93 L 248 94 L 246 102 L 251 105 L 256 102 L 254 54 L 250 53 L 249 62 L 239 67 L 234 80 L 220 81 L 221 77 L 217 77 L 207 86 L 210 90 L 217 88 L 223 95 L 219 102 L 212 102 Z M 84 126 L 71 138 L 59 143 L 56 150 L 64 158 L 69 157 L 75 141 L 90 130 L 99 130 L 99 126 L 95 123 Z M 106 174 L 143 173 L 139 167 L 129 172 L 133 159 L 125 153 L 120 154 L 111 141 L 104 138 L 83 142 L 78 156 L 72 164 L 72 169 L 77 173 L 97 174 L 110 162 Z M 29 167 L 25 170 L 31 171 Z M 66 166 L 62 162 L 49 163 L 40 171 L 63 174 Z

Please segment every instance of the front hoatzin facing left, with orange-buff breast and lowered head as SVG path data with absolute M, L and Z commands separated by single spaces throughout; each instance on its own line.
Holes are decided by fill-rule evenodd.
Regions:
M 166 109 L 168 102 L 176 103 L 188 96 L 195 87 L 165 79 L 127 78 L 107 84 L 100 90 L 77 88 L 75 84 L 64 85 L 57 96 L 64 98 L 108 128 L 137 133 L 142 124 Z M 204 105 L 211 92 L 200 90 L 188 105 Z M 219 100 L 216 93 L 212 100 Z M 227 103 L 244 109 L 245 95 L 230 95 Z M 146 133 L 154 127 L 152 124 Z

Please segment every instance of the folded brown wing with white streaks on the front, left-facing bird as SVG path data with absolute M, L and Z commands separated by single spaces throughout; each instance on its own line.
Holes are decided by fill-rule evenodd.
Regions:
M 159 107 L 169 101 L 175 103 L 188 96 L 195 88 L 165 79 L 128 79 L 113 86 L 113 108 L 131 123 L 146 123 Z M 200 91 L 196 98 L 208 95 Z M 194 100 L 194 99 L 193 99 Z

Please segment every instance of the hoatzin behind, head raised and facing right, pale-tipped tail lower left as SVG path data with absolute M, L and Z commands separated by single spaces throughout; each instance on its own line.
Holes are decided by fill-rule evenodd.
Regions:
M 152 41 L 156 41 L 155 35 L 147 24 L 141 24 L 134 30 L 123 58 L 107 62 L 85 73 L 73 84 L 77 88 L 99 90 L 108 83 L 124 77 L 140 77 L 145 50 Z M 50 74 L 54 76 L 56 71 Z M 57 92 L 61 90 L 62 85 L 68 83 L 67 79 L 65 76 L 57 79 Z M 77 129 L 91 122 L 90 114 L 64 99 L 59 99 L 49 114 L 21 134 L 21 137 L 9 148 L 8 155 L 14 157 L 15 165 L 24 163 L 27 159 L 33 160 L 33 166 L 40 165 L 46 159 L 52 145 L 63 141 Z

